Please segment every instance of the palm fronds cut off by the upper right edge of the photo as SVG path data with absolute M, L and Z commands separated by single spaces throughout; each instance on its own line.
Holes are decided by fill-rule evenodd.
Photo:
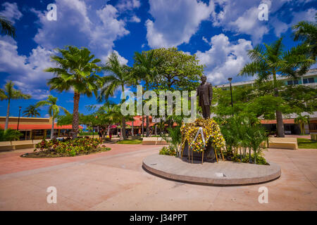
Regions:
M 317 17 L 316 17 L 317 19 Z M 292 26 L 294 31 L 292 37 L 294 41 L 302 41 L 302 46 L 306 47 L 306 53 L 316 60 L 317 56 L 317 24 L 301 21 Z

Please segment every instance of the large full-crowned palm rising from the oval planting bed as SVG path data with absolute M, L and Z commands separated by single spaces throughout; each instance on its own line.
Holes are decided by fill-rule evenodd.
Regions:
M 95 74 L 100 70 L 96 63 L 98 58 L 90 55 L 86 48 L 78 49 L 75 46 L 67 46 L 68 49 L 57 49 L 60 56 L 52 56 L 51 59 L 58 65 L 57 68 L 47 68 L 46 72 L 54 72 L 56 77 L 49 79 L 47 84 L 50 90 L 57 91 L 74 91 L 74 108 L 73 108 L 73 138 L 77 137 L 79 121 L 79 101 L 80 95 L 91 97 L 94 93 L 97 96 L 100 77 Z

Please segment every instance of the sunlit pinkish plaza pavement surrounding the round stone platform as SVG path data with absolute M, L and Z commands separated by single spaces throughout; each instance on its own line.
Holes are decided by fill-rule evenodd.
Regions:
M 317 150 L 269 149 L 279 179 L 253 186 L 199 186 L 153 176 L 142 169 L 162 146 L 108 144 L 108 152 L 73 158 L 20 158 L 0 153 L 0 210 L 317 210 Z M 57 203 L 47 203 L 49 186 Z M 268 203 L 259 203 L 259 187 Z

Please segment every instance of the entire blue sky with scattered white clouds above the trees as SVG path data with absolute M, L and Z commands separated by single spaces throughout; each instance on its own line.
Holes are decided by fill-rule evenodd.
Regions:
M 268 20 L 259 20 L 259 5 L 268 6 Z M 56 4 L 57 20 L 46 18 L 48 4 Z M 54 49 L 66 45 L 87 47 L 106 61 L 115 51 L 120 62 L 133 65 L 135 51 L 177 46 L 185 53 L 197 54 L 206 65 L 205 75 L 213 85 L 247 80 L 236 77 L 249 61 L 247 50 L 256 44 L 285 37 L 289 49 L 297 45 L 290 38 L 290 27 L 300 20 L 314 20 L 313 0 L 49 0 L 1 1 L 0 15 L 11 20 L 17 37 L 0 35 L 1 88 L 8 80 L 15 88 L 31 94 L 27 101 L 12 101 L 11 116 L 30 104 L 52 94 L 59 105 L 73 112 L 73 93 L 49 91 L 43 72 L 54 66 L 50 56 Z M 113 101 L 120 99 L 120 91 Z M 86 105 L 97 104 L 94 97 L 80 98 L 80 113 Z M 0 115 L 6 115 L 6 101 L 0 102 Z M 41 111 L 47 117 L 46 109 Z

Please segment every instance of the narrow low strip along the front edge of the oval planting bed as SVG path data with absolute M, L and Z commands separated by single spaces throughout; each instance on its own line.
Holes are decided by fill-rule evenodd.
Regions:
M 102 153 L 106 152 L 108 150 L 111 150 L 111 148 L 108 147 L 99 147 L 95 150 L 91 150 L 88 153 L 79 153 L 78 155 L 90 155 L 94 153 Z M 77 156 L 77 155 L 74 155 Z M 41 150 L 35 153 L 25 153 L 23 155 L 20 155 L 20 157 L 23 158 L 60 158 L 60 157 L 73 157 L 69 155 L 68 153 L 57 153 L 54 150 Z

